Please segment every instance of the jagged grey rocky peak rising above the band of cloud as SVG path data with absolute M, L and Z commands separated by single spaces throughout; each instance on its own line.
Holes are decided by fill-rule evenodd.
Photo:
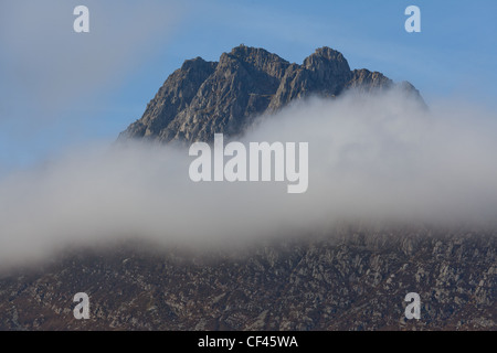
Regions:
M 381 73 L 350 71 L 343 55 L 329 47 L 316 50 L 298 65 L 264 49 L 241 45 L 215 63 L 201 57 L 186 61 L 120 138 L 212 141 L 215 132 L 242 133 L 256 116 L 274 113 L 294 99 L 393 85 Z M 411 84 L 403 87 L 422 100 Z

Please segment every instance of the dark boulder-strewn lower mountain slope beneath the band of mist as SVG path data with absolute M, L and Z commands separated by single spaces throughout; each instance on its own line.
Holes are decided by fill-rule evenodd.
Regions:
M 0 329 L 497 330 L 496 236 L 343 227 L 241 256 L 88 250 L 2 276 Z M 89 320 L 73 317 L 80 291 Z

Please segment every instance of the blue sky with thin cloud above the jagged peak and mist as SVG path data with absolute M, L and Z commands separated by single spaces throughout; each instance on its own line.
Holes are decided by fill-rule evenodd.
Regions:
M 91 33 L 73 31 L 78 4 Z M 404 30 L 410 4 L 421 9 L 421 33 Z M 296 63 L 330 46 L 351 68 L 410 81 L 429 104 L 495 111 L 496 12 L 495 0 L 1 0 L 0 176 L 115 140 L 186 58 L 216 61 L 241 43 Z

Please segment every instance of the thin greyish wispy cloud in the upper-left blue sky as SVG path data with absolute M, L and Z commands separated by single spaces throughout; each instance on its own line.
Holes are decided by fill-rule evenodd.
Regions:
M 32 128 L 115 86 L 181 21 L 177 1 L 85 1 L 89 33 L 73 31 L 77 1 L 0 4 L 0 121 Z

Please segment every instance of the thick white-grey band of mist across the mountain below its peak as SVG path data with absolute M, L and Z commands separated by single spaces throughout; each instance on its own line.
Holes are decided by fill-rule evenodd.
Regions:
M 237 141 L 308 142 L 308 189 L 193 182 L 188 148 L 99 142 L 0 180 L 0 265 L 120 239 L 202 248 L 322 232 L 337 222 L 497 220 L 496 114 L 404 94 L 309 98 Z M 211 142 L 211 141 L 208 141 Z

